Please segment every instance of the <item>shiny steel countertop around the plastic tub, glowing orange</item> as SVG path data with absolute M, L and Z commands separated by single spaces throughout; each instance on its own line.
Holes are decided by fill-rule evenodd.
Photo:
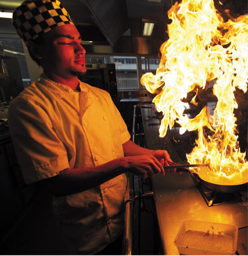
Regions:
M 234 224 L 239 229 L 247 227 L 247 202 L 209 207 L 187 173 L 167 173 L 165 176 L 156 176 L 152 181 L 166 255 L 179 255 L 173 242 L 183 220 Z

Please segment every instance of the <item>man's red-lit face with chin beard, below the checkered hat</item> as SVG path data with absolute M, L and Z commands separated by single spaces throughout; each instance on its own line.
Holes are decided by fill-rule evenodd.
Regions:
M 66 24 L 43 34 L 40 63 L 44 71 L 71 78 L 86 72 L 81 36 L 74 25 Z

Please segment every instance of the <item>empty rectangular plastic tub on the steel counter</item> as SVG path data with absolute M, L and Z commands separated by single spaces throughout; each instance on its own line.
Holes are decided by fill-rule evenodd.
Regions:
M 235 225 L 185 220 L 174 244 L 180 254 L 234 255 L 238 228 Z

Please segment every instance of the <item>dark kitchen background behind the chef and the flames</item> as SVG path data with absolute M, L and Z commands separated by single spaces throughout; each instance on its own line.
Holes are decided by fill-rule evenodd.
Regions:
M 176 1 L 60 1 L 80 31 L 87 52 L 87 74 L 80 77 L 80 80 L 110 93 L 136 143 L 149 148 L 155 147 L 155 143 L 156 147 L 160 147 L 162 143 L 161 147 L 165 147 L 168 141 L 164 141 L 168 137 L 164 141 L 154 138 L 161 117 L 154 111 L 154 106 L 151 106 L 153 95 L 141 85 L 140 78 L 146 72 L 155 74 L 159 67 L 159 48 L 168 39 L 166 30 L 170 21 L 167 11 Z M 9 13 L 21 2 L 0 1 L 0 11 Z M 215 7 L 224 19 L 229 18 L 224 12 L 226 8 L 234 18 L 247 14 L 247 0 L 215 1 Z M 154 24 L 150 36 L 143 34 L 145 22 Z M 52 217 L 51 194 L 42 183 L 28 186 L 23 184 L 8 133 L 8 104 L 39 77 L 42 69 L 31 60 L 27 48 L 11 24 L 11 19 L 7 18 L 0 18 L 0 60 L 0 254 L 68 254 Z M 211 88 L 207 94 L 211 102 L 216 101 Z M 239 142 L 241 150 L 245 152 L 247 94 L 237 90 L 235 96 L 239 105 L 235 111 Z M 148 122 L 144 117 L 149 117 Z M 180 138 L 177 138 L 178 134 L 171 133 L 169 136 L 169 145 L 175 148 L 177 146 L 177 156 L 184 161 L 185 152 L 191 149 L 194 134 L 186 134 Z M 155 205 L 153 196 L 149 196 L 152 189 L 150 182 L 135 179 L 136 193 L 147 193 L 147 197 L 135 203 L 133 254 L 153 255 L 164 254 L 166 251 L 161 242 L 161 223 L 157 220 L 156 207 L 157 211 L 159 208 Z M 242 207 L 247 211 L 245 202 Z M 244 242 L 242 240 L 239 243 L 238 254 L 247 254 L 247 226 L 242 226 L 241 229 L 239 232 L 242 232 Z

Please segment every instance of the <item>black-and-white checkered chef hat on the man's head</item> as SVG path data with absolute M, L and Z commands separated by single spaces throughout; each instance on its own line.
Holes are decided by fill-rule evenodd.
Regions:
M 25 42 L 65 24 L 73 22 L 58 0 L 27 0 L 13 13 L 13 25 Z

